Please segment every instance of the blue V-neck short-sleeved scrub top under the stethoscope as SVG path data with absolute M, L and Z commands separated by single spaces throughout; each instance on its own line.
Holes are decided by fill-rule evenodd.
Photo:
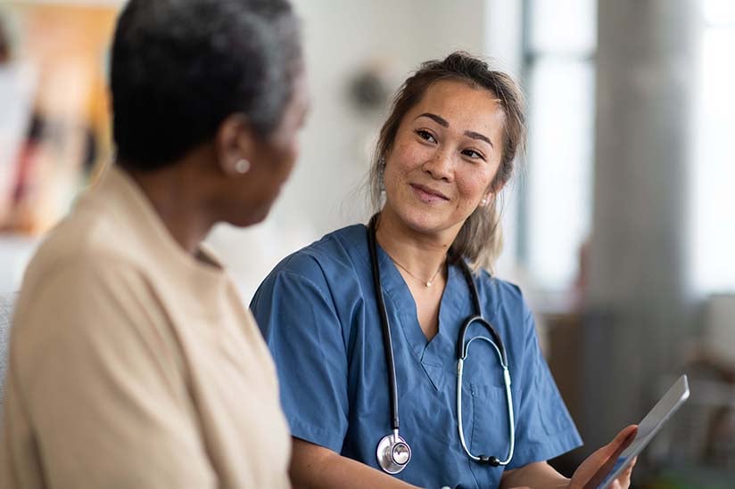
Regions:
M 449 267 L 439 332 L 427 341 L 401 273 L 378 247 L 391 324 L 401 436 L 409 465 L 395 477 L 422 487 L 497 487 L 503 468 L 470 460 L 459 443 L 456 411 L 458 330 L 473 314 L 467 282 Z M 508 352 L 516 411 L 516 452 L 508 469 L 549 460 L 582 440 L 539 349 L 533 314 L 520 290 L 475 275 L 486 320 Z M 376 447 L 391 432 L 383 333 L 368 254 L 368 229 L 353 225 L 286 257 L 251 308 L 273 354 L 281 403 L 293 436 L 378 468 Z M 480 325 L 467 339 L 482 334 Z M 498 356 L 485 341 L 469 350 L 462 387 L 465 439 L 475 455 L 508 452 L 508 411 Z

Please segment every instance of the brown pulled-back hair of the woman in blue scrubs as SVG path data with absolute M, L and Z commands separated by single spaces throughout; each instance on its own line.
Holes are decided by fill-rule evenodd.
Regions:
M 392 149 L 401 120 L 421 99 L 426 90 L 441 80 L 466 82 L 474 88 L 485 89 L 499 101 L 503 110 L 504 131 L 500 167 L 491 183 L 491 202 L 475 209 L 459 231 L 450 247 L 450 259 L 467 259 L 475 266 L 492 269 L 502 249 L 498 193 L 508 183 L 516 156 L 525 149 L 524 96 L 516 81 L 507 73 L 491 69 L 483 61 L 468 53 L 451 53 L 442 61 L 427 61 L 401 86 L 392 103 L 390 115 L 380 130 L 373 164 L 370 169 L 370 190 L 373 207 L 383 207 L 383 175 L 385 158 Z

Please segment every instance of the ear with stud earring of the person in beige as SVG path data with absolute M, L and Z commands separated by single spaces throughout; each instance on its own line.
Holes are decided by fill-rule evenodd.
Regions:
M 214 138 L 219 170 L 230 177 L 248 173 L 255 163 L 255 141 L 252 128 L 242 114 L 228 116 Z

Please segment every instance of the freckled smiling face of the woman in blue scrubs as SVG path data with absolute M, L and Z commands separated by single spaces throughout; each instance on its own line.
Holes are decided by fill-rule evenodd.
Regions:
M 401 120 L 386 156 L 384 214 L 414 232 L 453 240 L 492 198 L 503 126 L 495 94 L 459 81 L 430 86 Z

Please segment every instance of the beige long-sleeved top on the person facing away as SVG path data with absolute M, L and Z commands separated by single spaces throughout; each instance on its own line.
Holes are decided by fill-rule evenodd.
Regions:
M 2 488 L 289 486 L 252 315 L 116 167 L 29 265 L 4 409 Z

